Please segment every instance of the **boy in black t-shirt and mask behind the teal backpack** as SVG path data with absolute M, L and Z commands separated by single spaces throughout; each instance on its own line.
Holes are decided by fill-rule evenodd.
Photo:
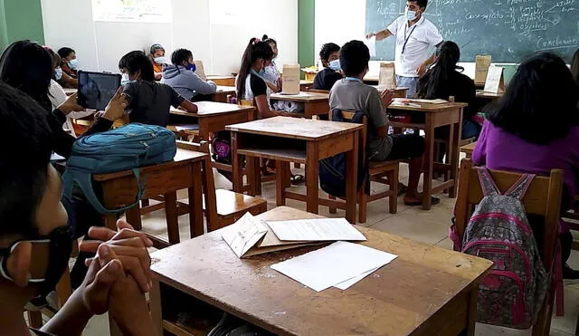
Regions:
M 145 53 L 130 52 L 119 61 L 123 73 L 123 92 L 128 96 L 130 122 L 166 127 L 171 106 L 195 113 L 197 106 L 179 95 L 172 87 L 155 82 L 153 65 Z

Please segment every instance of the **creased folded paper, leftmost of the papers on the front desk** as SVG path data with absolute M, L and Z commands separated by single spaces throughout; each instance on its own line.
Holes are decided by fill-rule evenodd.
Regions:
M 246 254 L 268 232 L 268 227 L 247 213 L 231 226 L 223 229 L 222 237 L 238 257 Z

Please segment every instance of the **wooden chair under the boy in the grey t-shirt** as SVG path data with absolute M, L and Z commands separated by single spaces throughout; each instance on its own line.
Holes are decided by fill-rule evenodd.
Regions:
M 356 113 L 352 111 L 342 111 L 342 117 L 344 120 L 352 120 Z M 330 111 L 329 119 L 333 119 L 333 112 Z M 366 154 L 366 141 L 367 141 L 367 126 L 368 120 L 364 117 L 364 130 L 360 132 L 361 138 L 364 139 L 360 141 L 360 150 L 364 153 L 364 158 Z M 368 175 L 364 181 L 362 188 L 358 194 L 358 221 L 360 223 L 365 223 L 367 219 L 367 206 L 368 203 L 374 202 L 375 200 L 388 197 L 390 203 L 390 213 L 395 214 L 398 211 L 398 177 L 399 177 L 400 160 L 394 161 L 370 161 L 368 162 Z M 369 186 L 372 182 L 381 183 L 389 186 L 387 191 L 372 195 L 372 190 Z M 366 193 L 366 190 L 368 193 Z M 336 199 L 334 196 L 329 196 L 330 199 Z M 336 207 L 329 208 L 330 214 L 336 214 Z

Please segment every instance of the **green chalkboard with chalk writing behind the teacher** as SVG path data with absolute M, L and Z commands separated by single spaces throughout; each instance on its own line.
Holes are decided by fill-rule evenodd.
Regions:
M 366 0 L 366 32 L 403 15 L 405 0 Z M 579 0 L 431 0 L 425 17 L 444 40 L 460 46 L 460 61 L 490 54 L 493 62 L 521 62 L 552 51 L 566 62 L 579 48 Z M 394 59 L 394 38 L 376 43 L 377 60 Z

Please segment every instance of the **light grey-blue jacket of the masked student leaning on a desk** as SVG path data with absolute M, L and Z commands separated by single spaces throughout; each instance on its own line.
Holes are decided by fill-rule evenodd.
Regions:
M 161 82 L 171 86 L 186 99 L 191 99 L 197 94 L 211 94 L 217 91 L 214 82 L 204 82 L 195 72 L 180 65 L 178 68 L 175 65 L 164 67 Z

